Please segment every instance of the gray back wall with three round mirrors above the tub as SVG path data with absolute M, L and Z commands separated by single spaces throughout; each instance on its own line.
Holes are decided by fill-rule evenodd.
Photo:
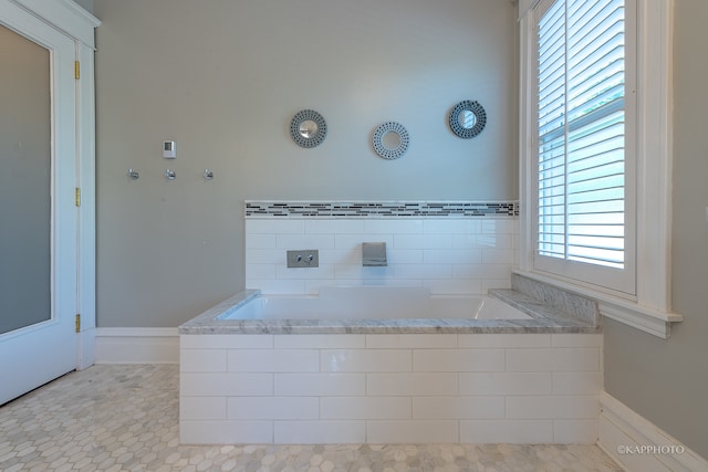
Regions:
M 94 0 L 93 10 L 101 327 L 176 326 L 241 290 L 244 199 L 518 198 L 510 1 Z M 468 98 L 488 125 L 459 139 L 447 113 Z M 327 120 L 314 149 L 289 136 L 303 108 Z M 402 159 L 373 153 L 385 120 L 410 134 Z M 177 141 L 175 161 L 163 140 Z

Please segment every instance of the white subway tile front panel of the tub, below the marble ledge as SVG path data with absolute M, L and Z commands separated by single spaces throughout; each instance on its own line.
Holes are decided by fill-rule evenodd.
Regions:
M 183 443 L 594 443 L 602 334 L 181 335 Z

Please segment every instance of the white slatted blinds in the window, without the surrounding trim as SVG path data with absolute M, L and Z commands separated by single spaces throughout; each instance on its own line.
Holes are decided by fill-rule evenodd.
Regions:
M 538 18 L 537 255 L 625 269 L 624 0 Z

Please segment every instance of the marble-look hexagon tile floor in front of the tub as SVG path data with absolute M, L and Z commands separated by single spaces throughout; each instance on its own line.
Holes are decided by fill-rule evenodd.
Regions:
M 176 365 L 94 366 L 0 408 L 0 471 L 620 471 L 594 445 L 180 445 Z

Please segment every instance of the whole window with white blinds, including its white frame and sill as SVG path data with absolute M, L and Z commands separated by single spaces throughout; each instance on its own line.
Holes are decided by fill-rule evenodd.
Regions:
M 615 4 L 622 6 L 621 23 L 610 14 Z M 514 272 L 596 300 L 604 316 L 663 338 L 669 337 L 673 323 L 683 319 L 671 312 L 670 300 L 673 8 L 671 0 L 519 0 L 521 233 L 519 269 Z M 595 14 L 583 13 L 591 10 Z M 582 36 L 574 32 L 589 21 L 592 27 L 584 31 L 602 40 L 576 42 Z M 615 88 L 612 84 L 620 83 L 613 82 L 612 67 L 595 65 L 600 75 L 591 74 L 592 81 L 580 81 L 579 90 L 601 93 L 579 93 L 577 96 L 589 97 L 582 99 L 586 106 L 580 106 L 580 102 L 566 98 L 575 96 L 573 71 L 582 71 L 576 64 L 583 57 L 587 57 L 589 65 L 597 63 L 593 57 L 603 56 L 598 54 L 602 51 L 598 48 L 613 44 L 611 39 L 614 36 L 606 33 L 613 24 L 622 24 L 624 30 L 624 96 L 610 92 Z M 543 42 L 550 38 L 556 41 Z M 552 50 L 555 56 L 549 54 Z M 562 60 L 560 54 L 563 54 Z M 540 107 L 552 102 L 542 102 L 542 97 L 553 97 L 555 91 L 551 86 L 553 82 L 539 73 L 546 71 L 540 67 L 541 61 L 550 65 L 553 59 L 558 60 L 554 77 L 559 80 L 558 87 L 562 84 L 563 94 L 556 102 L 560 108 L 555 112 L 555 120 L 551 119 L 554 116 L 551 107 Z M 549 73 L 552 71 L 548 69 Z M 598 88 L 593 87 L 595 84 Z M 541 95 L 540 91 L 546 93 Z M 602 92 L 607 93 L 603 95 Z M 597 99 L 593 101 L 595 97 Z M 620 109 L 624 111 L 624 118 L 618 118 Z M 580 115 L 573 111 L 579 111 Z M 540 122 L 546 114 L 549 118 Z M 617 122 L 610 128 L 620 129 L 621 122 L 624 126 L 622 199 L 616 189 L 610 190 L 614 186 L 600 186 L 597 192 L 590 190 L 585 195 L 581 191 L 580 196 L 591 197 L 590 201 L 575 206 L 572 176 L 582 169 L 572 168 L 579 156 L 573 145 L 582 143 L 575 138 L 601 136 L 595 132 L 613 123 L 613 117 Z M 541 123 L 549 126 L 539 126 Z M 615 134 L 614 139 L 618 140 L 618 136 L 620 133 Z M 552 195 L 553 186 L 541 185 L 539 176 L 552 175 L 548 169 L 553 166 L 551 161 L 545 162 L 545 168 L 539 164 L 552 156 L 549 149 L 559 160 L 562 156 L 564 167 L 559 167 L 556 174 L 563 176 L 559 188 L 565 191 L 545 199 L 542 197 Z M 620 155 L 617 150 L 614 153 Z M 600 153 L 607 154 L 612 153 Z M 608 159 L 605 165 L 590 168 L 608 169 L 610 162 Z M 618 164 L 615 166 L 620 167 Z M 542 170 L 548 172 L 542 174 Z M 592 174 L 580 180 L 597 183 L 598 176 Z M 555 203 L 558 207 L 553 207 Z M 589 206 L 601 210 L 586 211 Z M 612 220 L 610 214 L 618 214 L 622 207 L 623 217 Z M 554 209 L 562 217 L 553 214 Z M 590 213 L 597 220 L 594 224 L 580 224 L 577 212 Z M 558 221 L 561 223 L 556 224 Z

